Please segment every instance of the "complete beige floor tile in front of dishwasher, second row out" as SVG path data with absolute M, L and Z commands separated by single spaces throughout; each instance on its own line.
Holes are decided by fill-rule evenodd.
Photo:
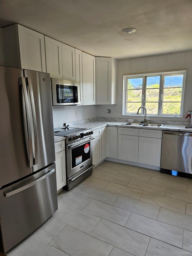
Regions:
M 153 184 L 161 185 L 161 186 L 164 186 L 164 187 L 167 187 L 167 188 L 174 188 L 174 189 L 178 189 L 178 190 L 187 192 L 187 184 L 184 184 L 184 183 L 181 183 L 181 182 L 176 182 L 176 181 L 173 181 L 173 180 L 151 177 L 149 183 L 153 183 Z

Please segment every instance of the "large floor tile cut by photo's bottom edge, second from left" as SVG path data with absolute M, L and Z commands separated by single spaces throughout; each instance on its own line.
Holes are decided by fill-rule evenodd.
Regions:
M 112 245 L 69 226 L 65 227 L 50 244 L 71 256 L 108 256 L 113 248 Z

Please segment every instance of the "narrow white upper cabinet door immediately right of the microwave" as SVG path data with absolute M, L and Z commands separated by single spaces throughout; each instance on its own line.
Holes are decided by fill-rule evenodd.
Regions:
M 82 84 L 82 51 L 75 49 L 75 71 L 76 81 L 80 84 L 79 101 L 80 105 L 83 104 L 83 84 Z

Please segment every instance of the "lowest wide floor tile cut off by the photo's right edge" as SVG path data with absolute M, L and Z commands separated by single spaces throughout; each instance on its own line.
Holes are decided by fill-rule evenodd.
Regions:
M 157 220 L 192 231 L 192 216 L 161 208 Z

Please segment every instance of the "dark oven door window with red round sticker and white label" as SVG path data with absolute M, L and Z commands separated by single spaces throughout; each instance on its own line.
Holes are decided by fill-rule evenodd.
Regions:
M 84 143 L 74 149 L 71 149 L 72 168 L 90 159 L 90 152 L 90 142 Z

